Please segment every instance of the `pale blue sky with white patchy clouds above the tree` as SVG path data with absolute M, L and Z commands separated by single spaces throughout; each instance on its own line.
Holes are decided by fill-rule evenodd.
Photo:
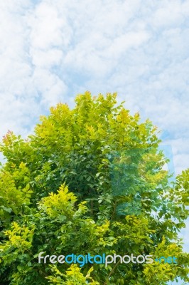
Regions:
M 161 130 L 175 173 L 189 167 L 188 0 L 0 1 L 0 41 L 1 137 L 78 93 L 117 92 Z

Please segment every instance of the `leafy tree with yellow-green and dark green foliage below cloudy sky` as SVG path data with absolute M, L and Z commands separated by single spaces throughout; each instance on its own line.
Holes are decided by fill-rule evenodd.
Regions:
M 2 284 L 166 284 L 188 282 L 178 232 L 188 217 L 188 177 L 163 170 L 158 130 L 130 115 L 117 95 L 77 95 L 41 116 L 27 140 L 1 143 Z M 38 263 L 45 255 L 134 254 L 153 263 Z M 173 262 L 159 257 L 175 257 Z M 156 259 L 156 261 L 155 261 Z

